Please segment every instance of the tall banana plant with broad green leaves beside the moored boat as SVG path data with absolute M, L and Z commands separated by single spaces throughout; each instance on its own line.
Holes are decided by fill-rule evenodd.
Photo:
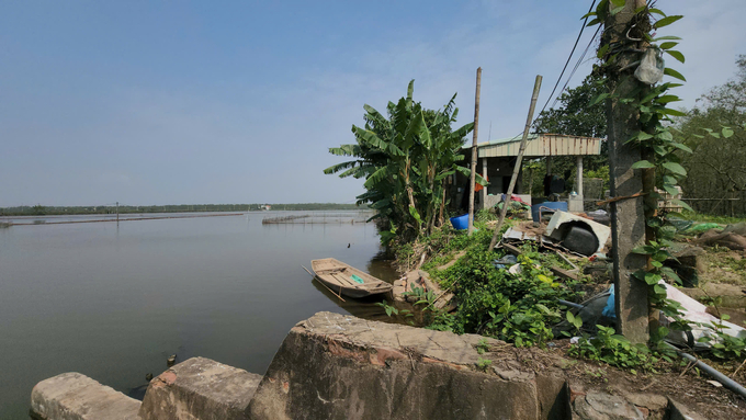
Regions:
M 365 125 L 352 126 L 355 144 L 329 149 L 354 159 L 324 170 L 340 178 L 365 179 L 366 191 L 357 201 L 377 211 L 373 218 L 389 222 L 391 230 L 382 235 L 384 242 L 394 237 L 408 242 L 429 235 L 443 223 L 445 178 L 455 171 L 468 174 L 457 163 L 464 159 L 461 147 L 474 124 L 453 130 L 451 124 L 459 115 L 456 95 L 440 111 L 425 110 L 412 100 L 414 83 L 409 82 L 405 98 L 388 103 L 387 117 L 364 105 Z

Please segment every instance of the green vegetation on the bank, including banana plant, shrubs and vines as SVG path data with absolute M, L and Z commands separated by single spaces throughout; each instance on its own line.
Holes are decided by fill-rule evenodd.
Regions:
M 611 3 L 617 8 L 610 9 Z M 619 2 L 601 1 L 596 11 L 589 13 L 589 16 L 596 18 L 591 24 L 604 22 L 609 13 L 619 12 L 622 7 L 617 3 Z M 646 22 L 647 30 L 667 26 L 681 19 L 666 16 L 662 11 L 648 7 L 641 8 L 635 13 L 638 14 L 640 22 Z M 668 58 L 683 61 L 683 56 L 671 49 L 677 43 L 660 43 L 678 39 L 677 37 L 653 39 L 647 32 L 641 34 L 649 43 L 659 43 L 654 46 L 658 48 L 658 54 L 667 53 L 670 56 Z M 609 54 L 601 48 L 598 57 L 613 61 L 615 55 Z M 663 67 L 663 63 L 660 66 Z M 427 291 L 417 285 L 412 285 L 411 292 L 406 292 L 419 297 L 416 305 L 427 313 L 423 317 L 427 328 L 456 333 L 479 333 L 517 347 L 549 347 L 553 340 L 576 336 L 577 343 L 567 348 L 570 355 L 623 368 L 653 372 L 660 368 L 662 363 L 679 363 L 676 353 L 663 343 L 663 338 L 670 330 L 686 332 L 692 327 L 703 327 L 711 330 L 710 338 L 704 338 L 703 341 L 712 344 L 708 351 L 701 353 L 703 356 L 742 362 L 746 359 L 746 342 L 743 339 L 724 333 L 724 328 L 719 322 L 703 326 L 683 319 L 680 305 L 667 298 L 666 288 L 659 284 L 660 281 L 680 284 L 672 270 L 664 265 L 664 262 L 672 258 L 670 249 L 677 241 L 689 241 L 678 236 L 675 219 L 680 222 L 699 216 L 658 211 L 659 194 L 653 191 L 655 186 L 657 191 L 676 195 L 679 182 L 685 195 L 689 191 L 692 194 L 710 194 L 713 191 L 725 194 L 746 189 L 742 180 L 746 172 L 736 168 L 743 159 L 732 158 L 746 152 L 744 141 L 739 141 L 745 127 L 743 116 L 746 115 L 744 57 L 738 59 L 738 80 L 716 88 L 703 97 L 705 102 L 701 107 L 689 112 L 669 107 L 669 103 L 679 100 L 669 91 L 678 86 L 671 82 L 654 87 L 637 83 L 628 98 L 619 98 L 619 94 L 613 97 L 604 91 L 604 72 L 609 70 L 599 66 L 583 86 L 562 97 L 561 110 L 542 113 L 535 124 L 536 129 L 544 132 L 562 130 L 562 134 L 568 135 L 603 136 L 606 115 L 602 101 L 607 98 L 633 105 L 640 116 L 640 130 L 629 141 L 642 150 L 646 160 L 636 162 L 632 168 L 655 170 L 652 177 L 655 182 L 648 185 L 649 194 L 645 194 L 656 200 L 646 198 L 646 223 L 652 234 L 644 247 L 632 251 L 648 256 L 648 264 L 645 270 L 635 272 L 634 276 L 647 284 L 651 302 L 648 309 L 656 314 L 662 311 L 671 319 L 668 327 L 651 323 L 652 339 L 648 345 L 633 345 L 609 326 L 584 326 L 579 317 L 568 310 L 569 306 L 562 303 L 580 303 L 589 297 L 586 295 L 588 291 L 594 291 L 589 286 L 608 290 L 608 280 L 604 284 L 598 284 L 583 275 L 560 279 L 550 269 L 563 268 L 564 262 L 556 254 L 539 252 L 531 246 L 524 247 L 517 257 L 513 264 L 516 271 L 508 272 L 505 266 L 499 266 L 506 252 L 488 249 L 495 229 L 495 225 L 489 223 L 493 215 L 482 213 L 475 223 L 477 231 L 472 236 L 452 230 L 444 224 L 447 215 L 443 208 L 448 197 L 440 184 L 456 170 L 467 174 L 455 163 L 463 159 L 459 155 L 460 148 L 464 144 L 463 137 L 472 129 L 471 124 L 467 124 L 451 132 L 450 124 L 455 121 L 457 111 L 453 106 L 453 100 L 443 111 L 422 110 L 419 103 L 412 102 L 410 83 L 406 98 L 396 104 L 388 104 L 388 117 L 365 105 L 365 126 L 352 127 L 357 144 L 330 149 L 335 155 L 351 156 L 355 160 L 330 167 L 325 172 L 341 172 L 342 178 L 364 178 L 366 192 L 358 201 L 371 203 L 371 207 L 378 212 L 376 217 L 386 222 L 382 229 L 382 240 L 396 256 L 397 264 L 404 268 L 402 271 L 421 268 L 442 290 L 453 294 L 455 308 L 448 310 L 437 309 L 436 300 L 439 296 L 428 295 Z M 683 76 L 670 68 L 665 68 L 664 73 L 683 80 Z M 724 141 L 720 145 L 717 140 Z M 527 163 L 529 169 L 532 164 L 535 166 L 535 173 L 544 173 L 542 162 Z M 555 169 L 562 168 L 568 172 L 574 171 L 574 162 L 558 160 Z M 587 170 L 587 174 L 604 179 L 604 185 L 608 185 L 606 156 L 591 159 Z M 698 175 L 686 178 L 688 172 Z M 715 181 L 703 182 L 701 177 Z M 533 178 L 530 174 L 524 178 L 524 182 L 531 182 Z M 700 183 L 716 185 L 717 189 L 691 186 Z M 674 202 L 691 212 L 686 203 Z M 447 264 L 449 259 L 455 261 Z M 598 287 L 595 292 L 598 292 Z M 720 314 L 716 307 L 715 311 Z M 727 316 L 721 319 L 725 320 Z M 553 328 L 560 323 L 564 323 L 565 328 Z M 737 371 L 733 375 L 736 373 Z M 742 373 L 739 377 L 742 382 L 743 375 Z

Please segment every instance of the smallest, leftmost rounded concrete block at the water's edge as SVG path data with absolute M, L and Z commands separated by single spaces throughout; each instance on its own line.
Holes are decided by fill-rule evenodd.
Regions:
M 36 384 L 31 415 L 42 420 L 137 420 L 140 402 L 90 377 L 70 372 Z

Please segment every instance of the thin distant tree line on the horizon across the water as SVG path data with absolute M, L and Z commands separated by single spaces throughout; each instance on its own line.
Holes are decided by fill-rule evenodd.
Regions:
M 120 214 L 132 213 L 188 213 L 188 212 L 257 212 L 269 206 L 270 211 L 341 211 L 366 209 L 368 205 L 340 203 L 295 203 L 295 204 L 177 204 L 177 205 L 120 205 Z M 115 214 L 116 206 L 16 206 L 0 207 L 0 216 L 45 216 L 45 215 L 86 215 Z

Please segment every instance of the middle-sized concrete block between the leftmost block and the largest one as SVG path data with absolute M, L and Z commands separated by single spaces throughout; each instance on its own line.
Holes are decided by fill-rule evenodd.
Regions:
M 260 375 L 189 359 L 150 381 L 139 410 L 143 420 L 246 419 L 244 411 Z

